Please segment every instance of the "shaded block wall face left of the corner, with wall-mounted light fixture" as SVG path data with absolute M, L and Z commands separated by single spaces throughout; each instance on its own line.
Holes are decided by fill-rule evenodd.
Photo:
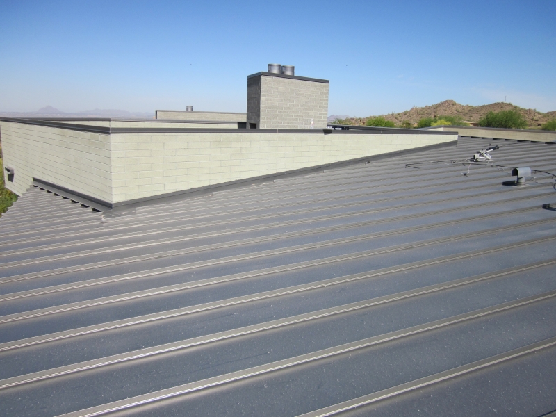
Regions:
M 13 167 L 6 188 L 22 195 L 33 177 L 111 201 L 110 136 L 15 122 L 0 122 L 3 163 Z

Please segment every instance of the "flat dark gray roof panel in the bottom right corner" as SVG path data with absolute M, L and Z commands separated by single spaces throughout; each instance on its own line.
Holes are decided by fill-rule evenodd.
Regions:
M 550 347 L 342 415 L 548 417 L 554 409 L 555 359 L 556 348 Z

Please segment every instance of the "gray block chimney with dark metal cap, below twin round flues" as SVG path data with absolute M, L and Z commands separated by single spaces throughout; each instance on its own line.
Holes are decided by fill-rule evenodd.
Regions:
M 247 125 L 259 129 L 324 129 L 329 81 L 259 72 L 247 76 Z M 252 126 L 255 127 L 255 126 Z

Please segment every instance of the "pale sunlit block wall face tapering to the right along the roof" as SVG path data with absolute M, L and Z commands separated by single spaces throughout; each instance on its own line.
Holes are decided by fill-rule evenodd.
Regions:
M 112 135 L 113 202 L 457 140 L 457 135 Z

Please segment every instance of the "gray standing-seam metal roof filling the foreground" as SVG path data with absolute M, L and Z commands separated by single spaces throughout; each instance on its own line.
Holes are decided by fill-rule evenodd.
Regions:
M 553 411 L 553 179 L 405 166 L 488 144 L 113 216 L 28 190 L 0 219 L 3 416 Z

